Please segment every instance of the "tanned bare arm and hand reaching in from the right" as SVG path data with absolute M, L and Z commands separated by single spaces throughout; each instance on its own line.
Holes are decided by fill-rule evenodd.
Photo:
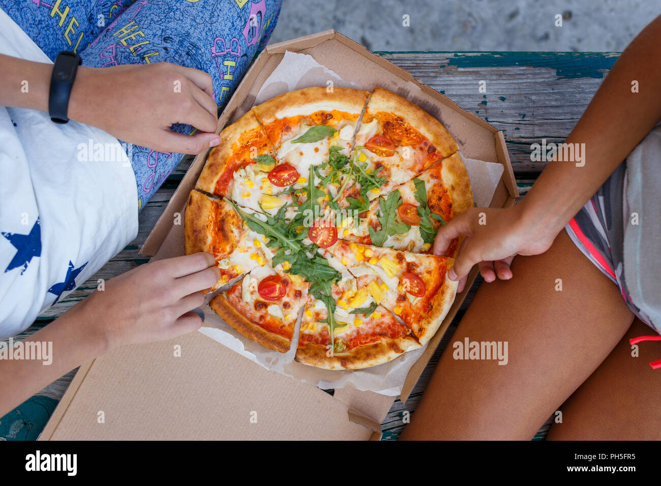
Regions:
M 434 253 L 458 235 L 467 239 L 449 276 L 462 280 L 479 264 L 486 282 L 512 278 L 515 255 L 537 255 L 553 243 L 633 148 L 661 120 L 661 17 L 631 42 L 613 65 L 565 143 L 584 143 L 584 165 L 551 161 L 513 208 L 473 208 L 443 226 Z M 639 93 L 632 92 L 638 81 Z M 485 212 L 486 224 L 478 223 Z

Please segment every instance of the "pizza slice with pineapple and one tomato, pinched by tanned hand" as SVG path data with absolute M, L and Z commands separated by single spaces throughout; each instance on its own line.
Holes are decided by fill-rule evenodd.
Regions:
M 382 305 L 402 319 L 420 344 L 436 333 L 457 292 L 457 282 L 447 278 L 453 259 L 343 240 L 328 251 L 356 278 L 356 292 L 338 304 Z

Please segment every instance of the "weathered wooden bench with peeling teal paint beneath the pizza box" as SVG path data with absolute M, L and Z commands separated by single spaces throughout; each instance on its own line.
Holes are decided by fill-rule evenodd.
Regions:
M 603 75 L 617 60 L 617 53 L 573 52 L 378 52 L 403 67 L 422 83 L 443 93 L 461 108 L 475 113 L 504 132 L 512 166 L 522 196 L 542 171 L 544 163 L 530 161 L 531 143 L 562 142 L 574 127 L 602 82 Z M 485 81 L 486 93 L 480 93 Z M 34 333 L 69 307 L 83 300 L 97 287 L 97 279 L 122 274 L 147 257 L 139 254 L 151 228 L 175 192 L 190 164 L 184 160 L 139 214 L 139 231 L 134 241 L 111 259 L 95 276 L 84 282 L 67 298 L 40 314 L 30 329 Z M 383 439 L 399 436 L 403 428 L 401 413 L 414 411 L 428 384 L 442 351 L 449 343 L 463 311 L 470 304 L 478 278 L 461 311 L 449 327 L 434 358 L 428 364 L 407 403 L 397 399 L 381 425 Z M 75 370 L 49 385 L 44 393 L 59 399 L 71 382 Z M 543 426 L 543 436 L 549 424 Z

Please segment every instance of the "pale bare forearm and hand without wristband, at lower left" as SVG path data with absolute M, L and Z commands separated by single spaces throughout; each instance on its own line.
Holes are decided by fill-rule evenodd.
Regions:
M 26 341 L 52 343 L 52 362 L 0 360 L 0 417 L 63 374 L 123 344 L 171 339 L 202 325 L 190 312 L 220 271 L 210 253 L 138 266 L 106 282 Z M 42 347 L 43 348 L 43 347 Z

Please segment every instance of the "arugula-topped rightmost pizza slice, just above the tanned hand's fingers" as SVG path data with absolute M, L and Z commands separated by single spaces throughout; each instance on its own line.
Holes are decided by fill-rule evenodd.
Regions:
M 473 191 L 459 153 L 371 202 L 358 224 L 346 225 L 341 239 L 413 253 L 429 251 L 442 224 L 473 206 Z M 353 220 L 352 220 L 353 222 Z M 371 227 L 371 229 L 370 229 Z M 398 232 L 396 232 L 398 231 Z M 447 250 L 456 257 L 459 241 Z

